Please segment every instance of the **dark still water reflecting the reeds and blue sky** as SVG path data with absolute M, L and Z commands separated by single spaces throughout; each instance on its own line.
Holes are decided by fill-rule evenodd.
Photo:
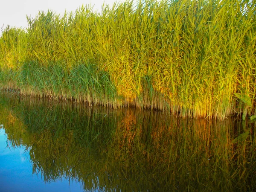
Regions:
M 253 191 L 255 122 L 0 94 L 0 191 Z

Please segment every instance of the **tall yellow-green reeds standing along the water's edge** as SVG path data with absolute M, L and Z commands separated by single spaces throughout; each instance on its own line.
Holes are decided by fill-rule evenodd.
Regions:
M 254 0 L 142 0 L 28 17 L 0 38 L 0 85 L 175 116 L 256 114 Z M 247 108 L 246 108 L 247 109 Z

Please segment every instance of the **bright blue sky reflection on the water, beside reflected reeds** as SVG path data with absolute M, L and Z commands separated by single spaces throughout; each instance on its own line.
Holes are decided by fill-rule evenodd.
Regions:
M 9 147 L 8 147 L 9 145 Z M 32 175 L 29 151 L 12 148 L 0 125 L 0 192 L 79 192 L 81 184 L 67 179 L 45 183 L 41 173 Z

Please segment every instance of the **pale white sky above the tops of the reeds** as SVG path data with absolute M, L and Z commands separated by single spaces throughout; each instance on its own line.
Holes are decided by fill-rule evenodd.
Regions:
M 35 17 L 39 11 L 52 10 L 57 14 L 75 11 L 83 4 L 90 4 L 93 10 L 101 11 L 102 5 L 113 5 L 114 2 L 125 0 L 0 0 L 0 28 L 7 25 L 26 28 L 26 15 Z

